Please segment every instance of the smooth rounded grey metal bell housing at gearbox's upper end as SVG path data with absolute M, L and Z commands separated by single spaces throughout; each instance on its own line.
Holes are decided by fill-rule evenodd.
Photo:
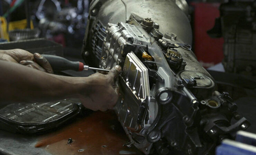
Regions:
M 130 20 L 130 14 L 133 14 L 140 22 L 145 18 L 151 18 L 152 27 L 159 30 L 160 33 L 164 35 L 165 33 L 175 33 L 183 42 L 192 44 L 192 30 L 188 19 L 189 7 L 185 0 L 157 2 L 155 0 L 93 0 L 90 3 L 88 24 L 81 53 L 89 66 L 98 67 L 99 65 L 108 23 L 125 23 Z M 170 14 L 175 14 L 175 16 L 170 16 Z M 154 34 L 159 36 L 160 33 Z M 85 51 L 90 54 L 84 55 Z

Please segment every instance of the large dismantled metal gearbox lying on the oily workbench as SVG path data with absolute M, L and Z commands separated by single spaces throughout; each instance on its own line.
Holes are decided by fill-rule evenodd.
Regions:
M 126 9 L 120 13 L 119 8 L 113 9 L 116 6 L 113 7 L 112 2 Z M 174 5 L 169 2 L 167 6 Z M 237 105 L 228 93 L 217 91 L 213 78 L 185 43 L 191 42 L 183 38 L 183 32 L 165 29 L 170 25 L 187 30 L 179 23 L 183 17 L 172 22 L 176 25 L 166 25 L 159 21 L 162 17 L 147 13 L 139 16 L 132 12 L 129 16 L 130 7 L 134 6 L 136 12 L 138 3 L 141 2 L 92 1 L 91 8 L 99 11 L 90 14 L 91 23 L 86 29 L 82 52 L 94 53 L 89 55 L 96 58 L 86 59 L 97 62 L 99 58 L 102 69 L 117 64 L 123 68 L 119 76 L 121 95 L 114 110 L 130 141 L 125 146 L 134 145 L 144 154 L 213 153 L 223 136 L 234 138 L 236 131 L 245 130 L 249 122 L 244 117 L 236 117 Z M 154 3 L 154 7 L 163 3 Z M 109 12 L 109 9 L 115 11 Z M 178 12 L 175 12 L 177 17 Z M 168 21 L 169 18 L 165 18 Z M 155 22 L 159 27 L 154 27 Z M 156 35 L 156 30 L 164 35 Z M 237 119 L 231 124 L 233 117 Z

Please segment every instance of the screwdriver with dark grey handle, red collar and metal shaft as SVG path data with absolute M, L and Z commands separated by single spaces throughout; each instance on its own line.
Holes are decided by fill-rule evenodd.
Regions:
M 104 71 L 104 72 L 110 71 L 107 69 L 89 67 L 88 65 L 84 65 L 82 62 L 70 61 L 65 58 L 62 58 L 61 56 L 47 55 L 47 54 L 42 54 L 42 56 L 44 56 L 48 60 L 48 62 L 50 63 L 54 71 L 65 71 L 65 70 L 73 70 L 77 72 L 80 72 L 83 70 L 95 70 L 95 71 Z

